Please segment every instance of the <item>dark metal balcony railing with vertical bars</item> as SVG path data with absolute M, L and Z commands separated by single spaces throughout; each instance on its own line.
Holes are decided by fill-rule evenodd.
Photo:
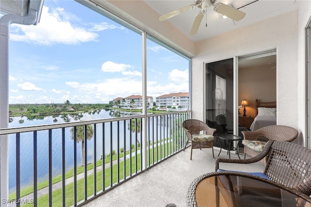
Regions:
M 14 152 L 6 201 L 80 205 L 182 150 L 189 118 L 179 111 L 1 129 Z

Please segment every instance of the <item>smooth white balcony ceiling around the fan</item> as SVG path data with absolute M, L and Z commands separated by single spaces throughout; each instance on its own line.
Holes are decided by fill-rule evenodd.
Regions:
M 217 0 L 216 2 L 222 2 L 228 5 L 231 4 L 236 9 L 240 8 L 239 10 L 246 13 L 246 16 L 240 21 L 233 21 L 229 18 L 223 19 L 219 13 L 215 12 L 212 7 L 209 7 L 195 35 L 189 35 L 189 32 L 195 16 L 201 11 L 201 9 L 197 7 L 166 21 L 170 21 L 192 41 L 198 42 L 294 10 L 296 9 L 296 1 L 297 0 Z M 164 15 L 180 7 L 193 4 L 194 0 L 145 0 L 145 2 L 160 15 Z

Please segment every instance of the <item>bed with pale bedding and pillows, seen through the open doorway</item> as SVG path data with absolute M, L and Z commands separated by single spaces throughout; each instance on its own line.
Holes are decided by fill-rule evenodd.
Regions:
M 256 99 L 256 117 L 250 127 L 251 131 L 259 128 L 276 125 L 276 101 L 259 102 Z

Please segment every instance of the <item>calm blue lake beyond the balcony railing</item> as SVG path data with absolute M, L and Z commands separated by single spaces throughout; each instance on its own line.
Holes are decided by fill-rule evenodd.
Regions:
M 80 113 L 77 115 L 68 116 L 45 116 L 40 118 L 34 118 L 26 116 L 23 117 L 12 117 L 10 120 L 9 127 L 26 127 L 26 126 L 38 126 L 47 125 L 53 123 L 66 123 L 66 122 L 79 122 L 81 120 L 95 120 L 95 119 L 106 119 L 112 117 L 121 117 L 133 115 L 127 112 L 121 111 L 110 111 L 110 110 L 100 110 L 91 111 L 86 113 Z M 155 123 L 155 122 L 154 122 Z M 164 123 L 162 122 L 161 125 Z M 129 138 L 132 133 L 132 144 L 135 144 L 135 132 L 131 132 L 129 127 L 129 120 L 125 122 L 120 122 L 119 139 L 120 148 L 123 146 L 124 133 L 126 136 L 126 150 L 130 149 Z M 156 125 L 156 124 L 155 124 Z M 159 125 L 159 123 L 158 123 Z M 104 125 L 104 154 L 110 153 L 110 123 L 105 123 Z M 113 149 L 117 149 L 117 122 L 112 122 L 113 131 Z M 155 133 L 155 132 L 154 132 Z M 49 131 L 37 131 L 37 177 L 38 182 L 47 180 L 49 178 Z M 70 127 L 65 129 L 65 166 L 66 172 L 73 168 L 73 140 L 71 139 Z M 96 125 L 96 155 L 94 155 L 94 139 L 87 141 L 87 162 L 93 163 L 94 156 L 96 159 L 101 159 L 103 155 L 103 124 Z M 138 134 L 140 137 L 140 134 Z M 161 137 L 164 135 L 161 135 Z M 156 139 L 156 138 L 155 138 Z M 163 139 L 163 138 L 162 138 Z M 22 188 L 33 185 L 33 156 L 34 156 L 34 141 L 33 132 L 25 132 L 20 134 L 20 185 Z M 117 150 L 116 150 L 117 151 Z M 77 143 L 77 166 L 82 165 L 82 150 L 81 142 Z M 61 175 L 62 172 L 62 129 L 52 130 L 52 176 Z M 15 135 L 9 136 L 9 192 L 12 193 L 16 188 L 16 138 Z

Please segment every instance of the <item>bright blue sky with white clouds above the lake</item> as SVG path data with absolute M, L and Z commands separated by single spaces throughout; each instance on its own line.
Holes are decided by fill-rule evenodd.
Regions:
M 108 103 L 142 94 L 141 34 L 73 0 L 10 25 L 9 104 Z M 147 96 L 189 92 L 189 62 L 147 40 Z

